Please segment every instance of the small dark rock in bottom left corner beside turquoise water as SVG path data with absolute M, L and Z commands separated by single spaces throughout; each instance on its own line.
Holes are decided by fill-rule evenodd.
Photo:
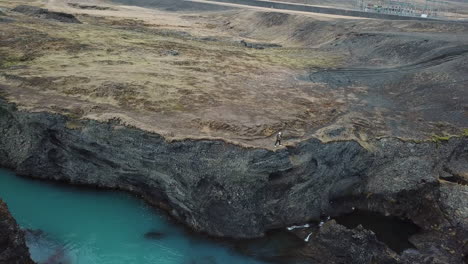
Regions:
M 24 234 L 0 200 L 0 264 L 33 264 Z

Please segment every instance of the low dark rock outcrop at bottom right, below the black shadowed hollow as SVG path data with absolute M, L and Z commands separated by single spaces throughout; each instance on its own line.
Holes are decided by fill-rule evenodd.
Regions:
M 393 232 L 400 231 L 393 230 Z M 295 233 L 301 238 L 310 234 L 310 241 L 305 246 L 289 252 L 287 257 L 293 259 L 290 263 L 463 263 L 462 256 L 457 256 L 456 252 L 450 249 L 460 247 L 463 243 L 459 243 L 458 246 L 450 245 L 455 240 L 447 238 L 438 231 L 413 236 L 411 242 L 415 248 L 408 248 L 400 254 L 391 250 L 374 232 L 364 229 L 361 225 L 348 229 L 331 220 L 321 228 L 300 230 Z

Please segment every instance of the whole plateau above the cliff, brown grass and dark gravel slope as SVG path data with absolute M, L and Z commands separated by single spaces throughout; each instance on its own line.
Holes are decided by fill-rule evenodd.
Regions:
M 375 137 L 459 134 L 464 24 L 68 3 L 50 0 L 46 7 L 74 13 L 82 24 L 5 10 L 11 21 L 0 20 L 0 95 L 22 109 L 72 117 L 71 129 L 80 129 L 83 118 L 118 119 L 168 139 L 221 138 L 256 147 L 271 147 L 279 130 L 288 144 L 311 136 L 365 144 Z M 450 40 L 444 34 L 458 35 Z M 282 47 L 248 48 L 243 39 Z M 400 48 L 405 45 L 427 47 L 413 54 Z M 376 75 L 385 89 L 350 84 L 347 72 L 339 71 L 404 66 L 447 45 L 461 53 L 436 68 L 413 69 L 406 77 Z M 370 70 L 365 74 L 371 76 Z M 314 72 L 322 77 L 310 79 Z M 460 79 L 458 86 L 438 96 L 439 83 L 452 79 Z M 413 90 L 425 94 L 426 86 L 418 85 L 427 82 L 434 83 L 426 85 L 433 97 L 399 97 Z M 425 116 L 417 110 L 421 105 L 430 111 L 442 105 L 437 113 L 453 120 L 436 127 L 444 120 Z

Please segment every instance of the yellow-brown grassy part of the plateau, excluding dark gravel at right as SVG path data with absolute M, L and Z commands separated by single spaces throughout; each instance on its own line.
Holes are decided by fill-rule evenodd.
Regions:
M 24 3 L 72 13 L 82 24 L 9 10 Z M 0 21 L 0 92 L 21 109 L 118 119 L 168 139 L 218 138 L 259 147 L 271 147 L 279 130 L 290 144 L 311 136 L 325 141 L 394 136 L 382 125 L 384 112 L 354 110 L 367 87 L 345 91 L 304 78 L 311 69 L 350 64 L 350 49 L 323 48 L 348 27 L 376 30 L 384 22 L 336 24 L 335 18 L 263 11 L 183 13 L 82 1 L 109 7 L 96 10 L 67 3 L 0 1 L 8 18 Z M 301 34 L 307 23 L 321 29 Z M 385 25 L 440 30 L 412 26 Z M 282 47 L 247 48 L 243 39 Z M 434 127 L 409 138 L 428 138 Z M 324 132 L 337 128 L 334 136 Z M 460 133 L 453 124 L 436 129 Z

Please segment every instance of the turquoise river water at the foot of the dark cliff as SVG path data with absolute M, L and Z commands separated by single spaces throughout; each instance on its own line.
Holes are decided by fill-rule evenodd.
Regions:
M 30 180 L 0 169 L 0 197 L 29 230 L 27 244 L 38 263 L 264 263 L 187 234 L 126 193 Z

